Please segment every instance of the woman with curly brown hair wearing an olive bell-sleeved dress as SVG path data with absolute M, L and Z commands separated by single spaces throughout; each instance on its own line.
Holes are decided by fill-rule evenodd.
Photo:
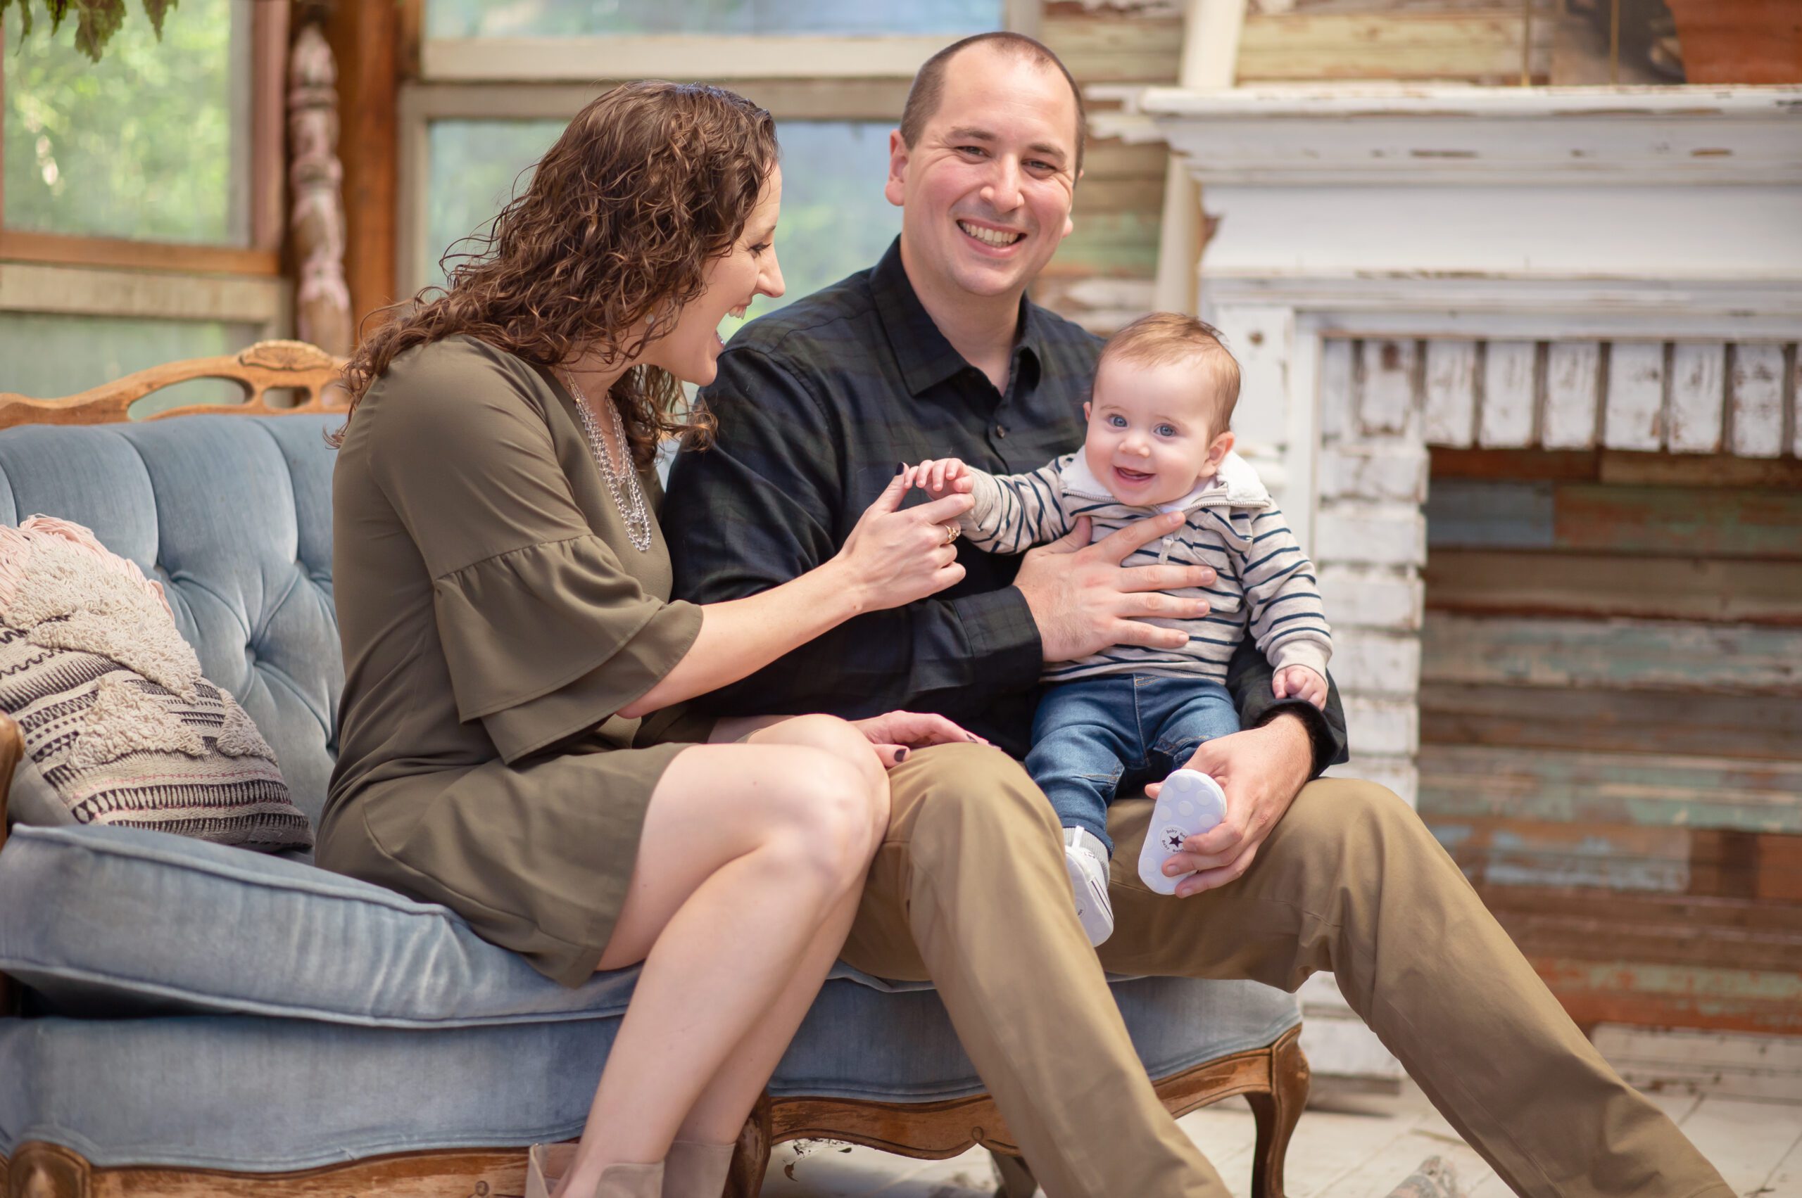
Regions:
M 706 1194 L 825 980 L 887 825 L 885 764 L 942 717 L 712 730 L 685 699 L 962 576 L 959 495 L 730 604 L 669 602 L 676 380 L 780 295 L 760 108 L 638 83 L 589 104 L 449 288 L 362 344 L 333 481 L 341 757 L 319 861 L 461 913 L 578 985 L 643 962 L 559 1187 Z M 705 438 L 705 427 L 688 429 Z M 533 1153 L 539 1162 L 539 1153 Z M 533 1178 L 533 1184 L 539 1184 Z

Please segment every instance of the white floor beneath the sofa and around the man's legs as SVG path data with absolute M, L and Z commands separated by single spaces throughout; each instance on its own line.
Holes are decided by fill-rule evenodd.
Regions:
M 1384 1198 L 1427 1157 L 1458 1175 L 1469 1198 L 1508 1189 L 1413 1085 L 1398 1095 L 1319 1095 L 1288 1149 L 1288 1198 Z M 1658 1095 L 1654 1101 L 1744 1198 L 1802 1198 L 1802 1103 Z M 1251 1189 L 1252 1117 L 1240 1099 L 1182 1119 L 1236 1198 Z M 843 1144 L 784 1144 L 769 1198 L 978 1198 L 995 1193 L 987 1153 L 906 1160 Z

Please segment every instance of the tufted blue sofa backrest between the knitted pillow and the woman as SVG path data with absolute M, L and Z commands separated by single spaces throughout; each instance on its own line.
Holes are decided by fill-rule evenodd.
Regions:
M 205 414 L 0 431 L 0 522 L 76 521 L 162 582 L 202 672 L 256 721 L 314 823 L 344 688 L 324 441 L 342 422 Z

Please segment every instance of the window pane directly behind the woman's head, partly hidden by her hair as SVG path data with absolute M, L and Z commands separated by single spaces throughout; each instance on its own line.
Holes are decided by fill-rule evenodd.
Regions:
M 483 227 L 562 132 L 562 121 L 434 121 L 425 182 L 427 254 Z M 901 231 L 901 209 L 883 198 L 887 121 L 782 121 L 782 218 L 777 258 L 787 294 L 759 297 L 753 315 L 872 265 Z M 443 283 L 434 263 L 431 283 Z M 723 330 L 728 337 L 732 331 Z

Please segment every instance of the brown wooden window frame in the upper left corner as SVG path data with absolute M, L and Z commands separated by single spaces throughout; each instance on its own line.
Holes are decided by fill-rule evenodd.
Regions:
M 0 195 L 0 312 L 254 324 L 259 339 L 288 330 L 292 288 L 283 277 L 288 5 L 254 4 L 249 11 L 249 245 L 7 229 Z M 171 20 L 182 20 L 180 11 Z M 0 29 L 0 94 L 4 86 Z

